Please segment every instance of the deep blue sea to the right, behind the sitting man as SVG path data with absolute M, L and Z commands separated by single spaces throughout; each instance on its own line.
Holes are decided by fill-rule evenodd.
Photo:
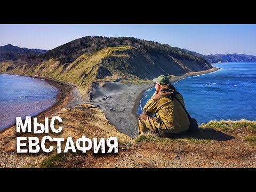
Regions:
M 256 62 L 218 63 L 214 67 L 221 69 L 173 83 L 183 95 L 190 116 L 198 123 L 213 119 L 255 121 Z M 142 95 L 138 115 L 154 92 L 155 88 Z

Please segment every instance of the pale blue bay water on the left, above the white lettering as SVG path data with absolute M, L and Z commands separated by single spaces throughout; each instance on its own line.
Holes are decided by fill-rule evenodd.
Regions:
M 59 90 L 44 79 L 0 74 L 0 130 L 16 117 L 34 116 L 52 106 Z

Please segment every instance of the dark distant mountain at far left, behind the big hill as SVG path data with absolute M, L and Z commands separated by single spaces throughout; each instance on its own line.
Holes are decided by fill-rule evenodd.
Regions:
M 30 60 L 35 59 L 37 56 L 47 52 L 40 49 L 20 48 L 14 45 L 0 46 L 0 61 L 5 60 Z

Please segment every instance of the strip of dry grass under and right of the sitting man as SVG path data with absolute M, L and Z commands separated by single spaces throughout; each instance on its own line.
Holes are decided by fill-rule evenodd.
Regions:
M 222 137 L 226 137 L 225 133 L 244 133 L 244 141 L 248 141 L 251 145 L 256 146 L 256 121 L 247 121 L 241 119 L 239 121 L 210 121 L 199 125 L 198 133 L 190 133 L 181 137 L 174 137 L 172 139 L 158 137 L 152 132 L 139 135 L 135 142 L 141 141 L 156 141 L 164 143 L 165 145 L 171 145 L 173 142 L 178 143 L 196 143 L 205 144 L 210 143 L 213 140 L 221 140 Z M 247 136 L 250 135 L 250 136 Z M 226 137 L 228 139 L 228 137 Z

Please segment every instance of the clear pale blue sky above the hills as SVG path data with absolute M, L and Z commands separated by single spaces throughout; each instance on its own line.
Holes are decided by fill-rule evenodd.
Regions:
M 256 55 L 256 25 L 0 25 L 0 46 L 50 50 L 84 36 L 131 36 L 201 54 Z

